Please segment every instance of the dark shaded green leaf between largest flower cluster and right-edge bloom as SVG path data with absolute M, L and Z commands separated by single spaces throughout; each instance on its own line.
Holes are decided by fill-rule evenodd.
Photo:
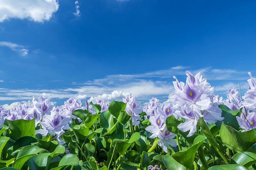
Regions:
M 236 120 L 236 116 L 239 116 L 239 110 L 231 110 L 226 105 L 219 105 L 219 108 L 222 110 L 221 117 L 224 117 L 224 120 L 217 121 L 215 124 L 220 129 L 222 122 L 228 126 L 233 127 L 236 130 L 239 130 L 239 124 Z

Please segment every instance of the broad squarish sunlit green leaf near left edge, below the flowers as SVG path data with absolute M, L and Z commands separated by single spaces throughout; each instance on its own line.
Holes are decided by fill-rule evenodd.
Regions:
M 5 119 L 4 124 L 10 127 L 11 134 L 8 137 L 17 141 L 19 138 L 24 136 L 33 136 L 35 133 L 35 118 L 27 121 L 24 119 L 18 119 L 10 121 Z

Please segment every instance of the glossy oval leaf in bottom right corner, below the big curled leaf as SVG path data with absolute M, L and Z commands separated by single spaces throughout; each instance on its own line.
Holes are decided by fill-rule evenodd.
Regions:
M 252 152 L 239 152 L 236 153 L 230 161 L 230 164 L 240 164 L 248 168 L 256 163 L 256 154 Z

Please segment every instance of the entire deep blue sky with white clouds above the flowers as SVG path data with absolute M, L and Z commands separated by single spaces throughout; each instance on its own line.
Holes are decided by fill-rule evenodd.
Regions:
M 256 77 L 255 1 L 0 0 L 0 105 L 69 97 L 163 102 L 201 72 L 223 96 Z

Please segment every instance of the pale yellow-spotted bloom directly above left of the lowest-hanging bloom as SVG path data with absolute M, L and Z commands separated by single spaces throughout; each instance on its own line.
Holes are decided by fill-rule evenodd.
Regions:
M 146 127 L 146 130 L 152 133 L 150 138 L 155 138 L 159 135 L 161 130 L 164 129 L 165 127 L 164 120 L 160 117 L 160 115 L 156 115 L 156 116 L 150 116 L 149 122 L 151 123 L 151 125 Z

